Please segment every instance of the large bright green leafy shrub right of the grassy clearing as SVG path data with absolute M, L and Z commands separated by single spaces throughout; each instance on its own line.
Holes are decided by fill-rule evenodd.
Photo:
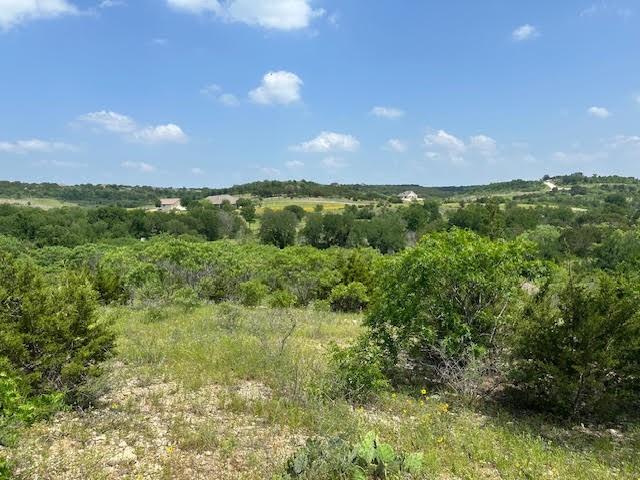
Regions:
M 366 317 L 390 362 L 403 353 L 416 367 L 496 347 L 522 295 L 526 244 L 454 229 L 423 237 L 386 262 Z

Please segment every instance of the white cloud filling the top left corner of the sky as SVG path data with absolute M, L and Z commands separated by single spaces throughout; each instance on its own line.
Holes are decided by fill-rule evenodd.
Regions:
M 0 0 L 0 30 L 9 30 L 21 23 L 80 13 L 67 0 Z

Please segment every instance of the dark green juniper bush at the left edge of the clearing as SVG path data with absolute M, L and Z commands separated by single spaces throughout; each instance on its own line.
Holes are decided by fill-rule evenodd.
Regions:
M 115 341 L 96 308 L 83 275 L 45 279 L 30 262 L 0 254 L 0 371 L 25 396 L 61 391 L 69 402 L 86 403 L 83 386 L 101 375 Z

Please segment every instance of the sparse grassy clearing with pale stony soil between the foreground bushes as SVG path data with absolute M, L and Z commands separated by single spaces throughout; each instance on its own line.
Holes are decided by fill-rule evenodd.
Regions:
M 121 333 L 106 393 L 24 432 L 6 452 L 17 478 L 278 478 L 308 437 L 369 431 L 424 453 L 413 478 L 640 475 L 637 427 L 560 426 L 413 391 L 364 406 L 327 398 L 326 348 L 355 338 L 355 315 L 220 305 L 104 316 Z

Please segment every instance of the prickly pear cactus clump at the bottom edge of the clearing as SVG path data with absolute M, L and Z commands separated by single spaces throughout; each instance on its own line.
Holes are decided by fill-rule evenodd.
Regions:
M 421 473 L 422 463 L 421 453 L 396 453 L 391 445 L 380 442 L 374 432 L 367 433 L 357 445 L 340 438 L 312 438 L 287 461 L 283 478 L 411 478 Z

